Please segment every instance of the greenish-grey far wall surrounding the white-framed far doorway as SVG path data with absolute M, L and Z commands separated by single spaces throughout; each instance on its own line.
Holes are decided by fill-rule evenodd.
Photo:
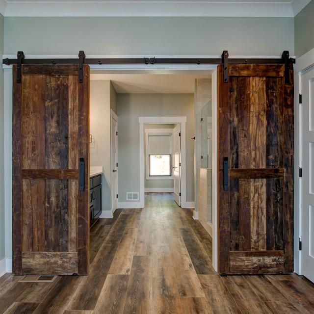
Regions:
M 119 202 L 139 192 L 139 117 L 186 116 L 186 201 L 194 201 L 194 95 L 118 94 Z M 121 165 L 121 166 L 120 166 Z

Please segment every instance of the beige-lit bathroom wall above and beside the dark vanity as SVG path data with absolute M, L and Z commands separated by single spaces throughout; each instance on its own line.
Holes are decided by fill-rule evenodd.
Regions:
M 90 81 L 90 166 L 103 166 L 103 210 L 111 210 L 110 108 L 116 93 L 109 80 Z

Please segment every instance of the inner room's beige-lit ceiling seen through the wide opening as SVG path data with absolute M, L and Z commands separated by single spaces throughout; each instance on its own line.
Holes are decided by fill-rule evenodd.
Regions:
M 111 80 L 119 94 L 191 94 L 195 78 L 209 78 L 209 75 L 91 74 L 90 78 Z

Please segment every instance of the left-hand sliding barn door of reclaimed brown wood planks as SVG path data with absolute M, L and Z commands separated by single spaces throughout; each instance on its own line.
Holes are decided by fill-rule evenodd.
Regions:
M 13 66 L 13 272 L 87 274 L 89 67 Z

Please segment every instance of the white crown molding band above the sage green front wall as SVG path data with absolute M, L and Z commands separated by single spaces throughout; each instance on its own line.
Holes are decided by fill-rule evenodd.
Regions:
M 0 0 L 4 16 L 293 17 L 310 0 Z

